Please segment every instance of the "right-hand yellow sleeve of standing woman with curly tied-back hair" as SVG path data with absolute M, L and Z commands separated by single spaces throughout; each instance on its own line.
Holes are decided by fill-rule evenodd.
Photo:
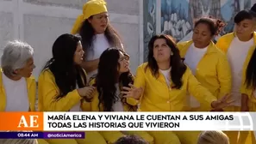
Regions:
M 228 58 L 224 54 L 219 58 L 217 63 L 217 77 L 220 82 L 220 93 L 218 99 L 231 92 L 231 69 L 228 63 Z

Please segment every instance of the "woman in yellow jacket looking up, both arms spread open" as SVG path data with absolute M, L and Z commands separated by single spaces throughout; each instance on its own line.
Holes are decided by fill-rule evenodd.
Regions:
M 187 93 L 205 107 L 220 109 L 229 104 L 228 95 L 217 100 L 192 75 L 183 63 L 171 36 L 155 35 L 148 44 L 148 62 L 137 69 L 134 86 L 123 87 L 128 102 L 138 100 L 139 111 L 188 111 Z M 172 132 L 148 132 L 155 143 L 196 144 L 198 133 L 175 135 Z

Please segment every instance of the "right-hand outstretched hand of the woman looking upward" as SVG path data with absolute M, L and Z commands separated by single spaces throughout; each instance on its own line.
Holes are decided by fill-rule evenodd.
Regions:
M 230 94 L 226 94 L 222 99 L 218 99 L 211 103 L 212 107 L 216 109 L 222 109 L 233 103 L 234 100 L 230 99 Z

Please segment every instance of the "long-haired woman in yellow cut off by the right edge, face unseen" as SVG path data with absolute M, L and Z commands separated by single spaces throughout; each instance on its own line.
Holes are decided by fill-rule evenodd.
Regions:
M 242 97 L 241 107 L 242 111 L 256 111 L 256 49 L 252 54 L 247 55 L 245 65 L 246 69 L 243 69 L 242 85 L 240 93 Z M 250 132 L 252 137 L 252 144 L 256 144 L 255 134 Z

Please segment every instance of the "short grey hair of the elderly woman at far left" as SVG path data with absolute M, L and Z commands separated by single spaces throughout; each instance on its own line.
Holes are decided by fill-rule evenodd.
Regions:
M 9 41 L 3 48 L 1 67 L 5 75 L 14 76 L 16 69 L 22 69 L 28 59 L 33 57 L 33 48 L 25 42 Z

